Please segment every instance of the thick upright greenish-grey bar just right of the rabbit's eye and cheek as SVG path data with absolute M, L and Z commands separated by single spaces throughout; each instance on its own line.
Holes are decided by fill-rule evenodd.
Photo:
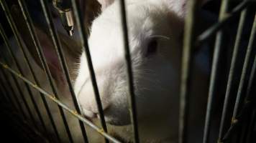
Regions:
M 183 53 L 180 75 L 180 111 L 178 142 L 186 143 L 188 135 L 188 107 L 189 107 L 189 88 L 191 81 L 191 64 L 193 61 L 192 49 L 194 45 L 194 33 L 196 23 L 196 12 L 198 9 L 198 0 L 188 1 L 188 12 L 186 15 L 183 37 Z

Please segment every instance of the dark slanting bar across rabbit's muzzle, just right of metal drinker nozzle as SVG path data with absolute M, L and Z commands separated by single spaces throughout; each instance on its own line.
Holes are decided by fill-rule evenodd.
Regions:
M 96 99 L 97 108 L 98 108 L 98 111 L 99 111 L 101 126 L 104 129 L 104 132 L 107 132 L 106 122 L 105 122 L 105 118 L 104 118 L 104 112 L 103 112 L 103 108 L 102 108 L 102 104 L 101 104 L 101 98 L 100 98 L 100 95 L 99 95 L 99 89 L 98 89 L 97 82 L 96 82 L 96 76 L 95 76 L 95 73 L 93 71 L 93 64 L 92 64 L 92 61 L 91 61 L 91 54 L 90 54 L 90 50 L 89 50 L 89 47 L 88 47 L 88 41 L 87 41 L 86 33 L 85 33 L 86 31 L 85 31 L 84 26 L 83 26 L 83 16 L 81 15 L 81 9 L 78 9 L 78 1 L 71 0 L 71 2 L 72 2 L 73 9 L 74 9 L 76 25 L 78 26 L 78 31 L 79 31 L 79 34 L 80 34 L 81 45 L 82 45 L 83 49 L 85 49 L 85 53 L 86 53 L 88 69 L 89 69 L 89 72 L 90 72 L 91 83 L 93 85 L 93 92 L 94 92 L 94 96 L 95 96 L 95 99 Z M 109 142 L 109 141 L 106 140 L 106 142 Z

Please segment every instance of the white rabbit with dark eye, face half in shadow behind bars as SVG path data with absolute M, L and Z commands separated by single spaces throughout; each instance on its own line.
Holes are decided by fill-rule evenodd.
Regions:
M 119 1 L 99 0 L 102 13 L 91 27 L 89 49 L 106 122 L 114 134 L 131 141 L 127 69 Z M 178 142 L 180 64 L 186 0 L 127 0 L 127 26 L 142 142 Z M 193 62 L 189 137 L 202 139 L 207 73 Z M 83 114 L 99 117 L 85 53 L 74 89 Z M 127 128 L 126 128 L 127 127 Z M 121 131 L 122 130 L 122 131 Z

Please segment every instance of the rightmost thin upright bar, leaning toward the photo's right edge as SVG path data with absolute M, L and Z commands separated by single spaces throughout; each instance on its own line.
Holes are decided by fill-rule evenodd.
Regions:
M 251 31 L 252 32 L 250 34 L 250 39 L 249 39 L 249 43 L 248 43 L 248 47 L 247 47 L 247 52 L 246 52 L 245 59 L 244 59 L 244 65 L 242 67 L 242 74 L 241 74 L 241 77 L 240 77 L 239 87 L 238 87 L 238 91 L 237 91 L 237 99 L 236 99 L 236 102 L 234 104 L 234 112 L 233 112 L 233 117 L 232 117 L 233 119 L 236 119 L 236 117 L 237 117 L 239 101 L 240 101 L 240 98 L 241 98 L 242 89 L 244 88 L 245 76 L 246 76 L 247 70 L 248 70 L 247 66 L 249 64 L 250 55 L 251 55 L 252 48 L 253 48 L 252 47 L 253 46 L 253 41 L 255 39 L 255 33 L 256 33 L 256 14 L 255 14 L 255 19 L 254 19 Z M 252 84 L 252 82 L 249 82 L 249 83 Z M 250 84 L 249 84 L 248 87 L 250 87 Z M 249 94 L 249 93 L 247 93 L 247 94 Z

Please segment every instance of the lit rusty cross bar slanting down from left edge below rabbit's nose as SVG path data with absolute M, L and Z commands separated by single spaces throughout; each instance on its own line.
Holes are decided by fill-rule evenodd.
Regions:
M 115 139 L 114 137 L 111 137 L 111 135 L 107 134 L 106 132 L 104 132 L 104 129 L 100 129 L 99 127 L 97 127 L 96 125 L 94 125 L 92 122 L 90 122 L 88 119 L 85 119 L 81 114 L 78 114 L 78 112 L 70 109 L 68 106 L 66 106 L 65 104 L 63 104 L 62 102 L 60 102 L 60 100 L 55 98 L 55 95 L 49 94 L 48 92 L 46 92 L 44 89 L 41 89 L 40 87 L 37 87 L 36 84 L 33 84 L 32 82 L 30 82 L 28 79 L 26 79 L 25 77 L 22 76 L 22 74 L 17 73 L 17 71 L 14 71 L 13 69 L 11 69 L 7 64 L 4 64 L 2 61 L 0 61 L 0 65 L 2 67 L 4 67 L 4 69 L 10 71 L 12 74 L 14 74 L 16 77 L 18 77 L 19 79 L 22 79 L 24 82 L 26 82 L 27 84 L 29 84 L 31 87 L 37 89 L 39 92 L 41 92 L 42 94 L 45 95 L 45 97 L 49 98 L 52 100 L 52 102 L 57 103 L 58 105 L 60 105 L 60 107 L 62 107 L 63 109 L 65 109 L 66 111 L 68 111 L 70 114 L 72 114 L 74 117 L 77 117 L 81 122 L 87 124 L 89 127 L 91 127 L 92 129 L 96 130 L 96 132 L 99 132 L 102 136 L 106 137 L 107 139 L 109 139 L 111 142 L 114 143 L 121 143 L 119 142 L 117 139 Z

